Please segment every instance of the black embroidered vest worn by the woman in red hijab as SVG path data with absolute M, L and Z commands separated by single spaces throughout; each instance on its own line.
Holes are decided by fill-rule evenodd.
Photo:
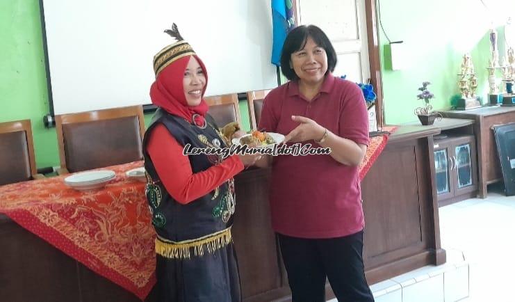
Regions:
M 220 234 L 231 226 L 235 207 L 234 180 L 224 182 L 217 189 L 186 205 L 181 205 L 174 200 L 163 186 L 146 148 L 148 134 L 152 133 L 152 129 L 158 124 L 165 125 L 170 134 L 183 146 L 190 144 L 195 148 L 224 148 L 226 144 L 211 116 L 206 116 L 206 127 L 202 129 L 163 109 L 156 111 L 143 139 L 143 155 L 147 171 L 145 193 L 158 238 L 161 237 L 167 242 L 173 241 L 174 244 L 195 239 L 206 241 L 205 238 L 209 235 Z M 170 156 L 184 155 L 170 154 Z M 222 161 L 222 157 L 218 155 L 195 154 L 188 157 L 193 173 L 204 171 Z M 225 236 L 230 236 L 230 232 Z M 230 238 L 227 239 L 230 240 Z M 191 247 L 191 244 L 189 246 Z

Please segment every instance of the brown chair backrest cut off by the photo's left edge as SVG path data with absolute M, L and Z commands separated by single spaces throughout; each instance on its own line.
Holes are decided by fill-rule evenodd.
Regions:
M 0 185 L 36 175 L 31 120 L 0 122 Z

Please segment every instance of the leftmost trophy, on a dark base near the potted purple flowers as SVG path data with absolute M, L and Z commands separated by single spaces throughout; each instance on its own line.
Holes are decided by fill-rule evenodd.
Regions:
M 492 65 L 495 60 L 491 61 Z M 461 99 L 457 102 L 457 109 L 467 110 L 480 107 L 475 91 L 477 89 L 477 77 L 474 72 L 471 55 L 465 54 L 461 63 L 461 72 L 458 74 L 458 88 L 461 91 Z

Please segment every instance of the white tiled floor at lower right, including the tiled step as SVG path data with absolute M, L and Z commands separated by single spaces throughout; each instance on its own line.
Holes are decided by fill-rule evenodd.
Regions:
M 441 207 L 447 263 L 371 285 L 376 302 L 514 302 L 515 196 L 490 186 L 488 198 Z M 333 299 L 329 302 L 336 302 Z

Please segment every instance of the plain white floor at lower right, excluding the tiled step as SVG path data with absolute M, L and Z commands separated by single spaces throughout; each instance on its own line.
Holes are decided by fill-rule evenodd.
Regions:
M 515 301 L 515 196 L 490 186 L 488 198 L 439 212 L 443 248 L 462 251 L 470 267 L 470 296 L 462 301 Z

